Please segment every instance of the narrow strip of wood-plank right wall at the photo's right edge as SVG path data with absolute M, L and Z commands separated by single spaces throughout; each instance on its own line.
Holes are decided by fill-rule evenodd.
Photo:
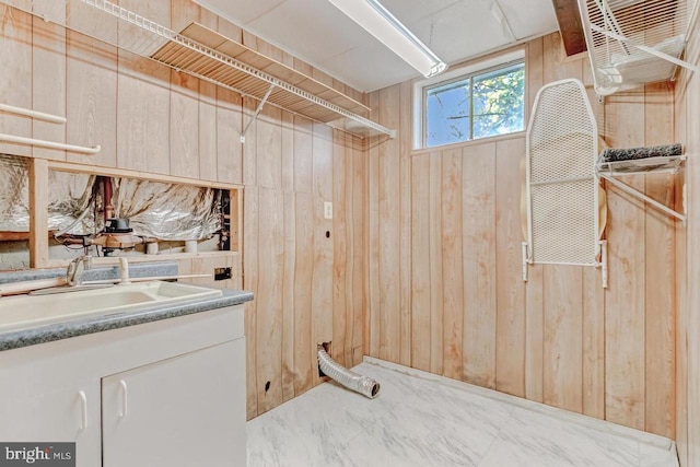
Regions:
M 700 59 L 700 31 L 696 22 L 686 50 L 686 60 Z M 681 70 L 676 84 L 676 139 L 686 145 L 688 222 L 676 230 L 676 444 L 681 467 L 700 465 L 700 317 L 698 316 L 698 269 L 700 258 L 700 77 Z M 682 212 L 682 185 L 676 186 L 676 209 Z

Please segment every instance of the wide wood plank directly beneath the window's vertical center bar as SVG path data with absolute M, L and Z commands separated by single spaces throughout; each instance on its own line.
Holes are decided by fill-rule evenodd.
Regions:
M 495 387 L 495 144 L 463 151 L 464 380 Z

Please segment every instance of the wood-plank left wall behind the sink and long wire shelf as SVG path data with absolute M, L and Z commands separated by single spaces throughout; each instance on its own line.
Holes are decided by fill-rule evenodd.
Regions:
M 120 4 L 173 28 L 200 22 L 364 98 L 189 0 Z M 255 293 L 246 305 L 248 418 L 323 381 L 318 342 L 331 342 L 340 363 L 361 361 L 368 160 L 360 141 L 266 107 L 242 144 L 256 101 L 4 4 L 0 17 L 0 102 L 68 117 L 49 128 L 0 115 L 3 132 L 103 148 L 92 157 L 7 144 L 0 152 L 244 186 L 244 255 L 185 259 L 180 271 L 233 267 L 231 280 L 192 282 Z M 117 33 L 115 20 L 80 8 L 69 24 L 105 40 Z M 324 201 L 334 202 L 332 220 Z

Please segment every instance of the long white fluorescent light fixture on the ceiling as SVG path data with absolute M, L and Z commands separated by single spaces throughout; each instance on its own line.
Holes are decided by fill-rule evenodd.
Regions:
M 406 28 L 387 9 L 376 0 L 328 0 L 350 16 L 368 33 L 376 37 L 394 54 L 421 72 L 425 78 L 434 77 L 447 66 L 418 37 Z

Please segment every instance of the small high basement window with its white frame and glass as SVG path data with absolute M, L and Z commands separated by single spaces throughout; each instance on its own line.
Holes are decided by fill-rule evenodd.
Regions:
M 524 52 L 459 68 L 415 87 L 415 149 L 523 131 Z

